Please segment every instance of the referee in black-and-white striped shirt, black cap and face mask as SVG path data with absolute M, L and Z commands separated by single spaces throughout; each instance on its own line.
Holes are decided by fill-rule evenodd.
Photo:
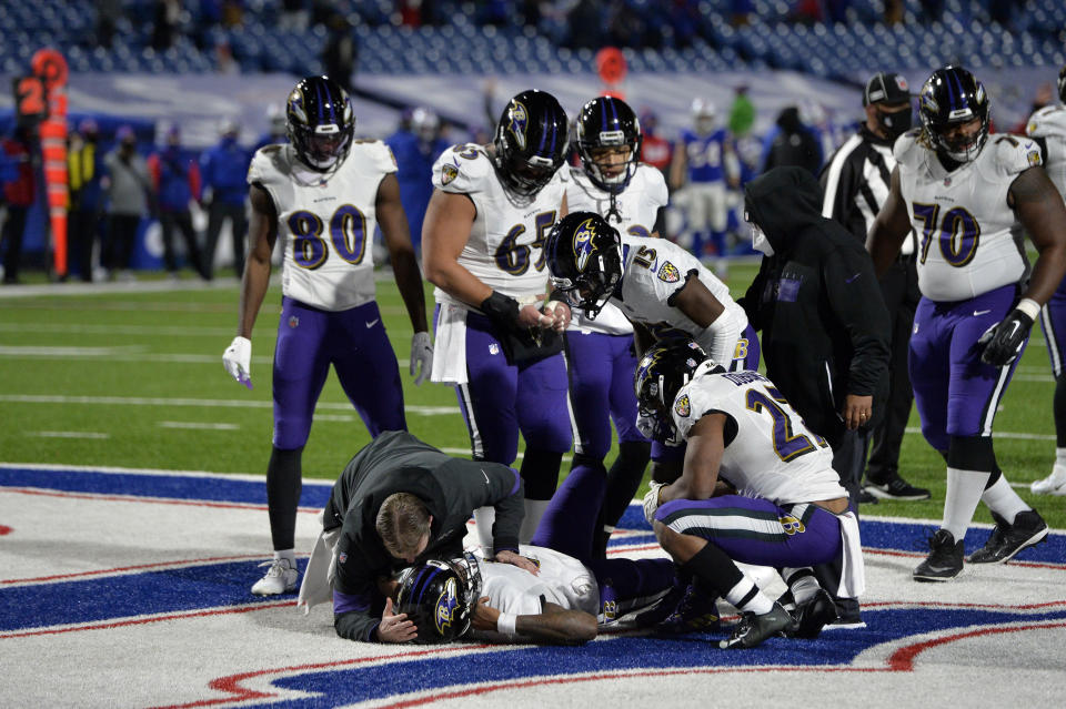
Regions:
M 819 182 L 825 195 L 822 215 L 836 220 L 855 234 L 855 239 L 865 243 L 866 233 L 888 196 L 892 171 L 896 166 L 892 145 L 911 128 L 907 80 L 889 72 L 874 74 L 866 82 L 863 107 L 866 120 L 859 124 L 858 132 L 833 153 L 822 170 Z M 912 232 L 896 263 L 881 281 L 892 320 L 889 394 L 885 415 L 876 422 L 872 432 L 873 448 L 859 502 L 929 497 L 929 490 L 914 487 L 899 476 L 899 446 L 914 399 L 907 374 L 907 346 L 914 311 L 921 297 L 915 270 L 915 241 Z

